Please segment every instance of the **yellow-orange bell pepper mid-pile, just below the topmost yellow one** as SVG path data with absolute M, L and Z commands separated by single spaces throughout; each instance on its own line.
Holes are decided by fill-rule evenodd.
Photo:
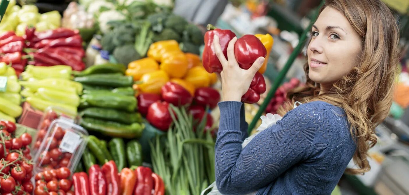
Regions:
M 164 53 L 160 69 L 168 73 L 171 78 L 182 78 L 188 69 L 186 56 L 178 51 Z

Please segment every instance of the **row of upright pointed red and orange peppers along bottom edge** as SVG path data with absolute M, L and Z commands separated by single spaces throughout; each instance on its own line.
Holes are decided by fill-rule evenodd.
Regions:
M 164 195 L 162 178 L 148 167 L 118 170 L 113 160 L 85 172 L 74 173 L 75 195 Z

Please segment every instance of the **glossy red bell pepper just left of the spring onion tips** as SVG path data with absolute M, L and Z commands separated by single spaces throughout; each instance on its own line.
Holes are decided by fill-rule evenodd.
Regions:
M 172 123 L 169 103 L 157 101 L 149 106 L 146 120 L 161 131 L 167 131 Z

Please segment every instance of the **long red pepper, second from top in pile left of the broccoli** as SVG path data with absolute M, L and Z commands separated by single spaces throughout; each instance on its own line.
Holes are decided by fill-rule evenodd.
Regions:
M 34 45 L 34 48 L 43 48 L 45 46 L 49 47 L 82 47 L 82 38 L 80 35 L 74 35 L 67 38 L 58 38 L 58 39 L 43 39 L 40 42 L 37 42 Z

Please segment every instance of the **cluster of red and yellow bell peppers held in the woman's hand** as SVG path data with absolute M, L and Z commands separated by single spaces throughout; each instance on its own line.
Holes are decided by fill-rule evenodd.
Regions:
M 216 56 L 213 48 L 213 37 L 218 35 L 220 47 L 227 58 L 227 46 L 231 39 L 236 35 L 230 30 L 223 30 L 209 25 L 205 34 L 205 49 L 203 50 L 203 66 L 209 73 L 221 72 L 222 65 Z M 268 57 L 274 43 L 271 35 L 244 35 L 237 39 L 234 45 L 234 55 L 240 68 L 249 69 L 258 57 L 265 57 L 263 66 L 254 75 L 250 88 L 242 96 L 241 101 L 244 103 L 256 103 L 260 100 L 260 94 L 265 92 L 265 80 L 263 73 L 267 67 Z

